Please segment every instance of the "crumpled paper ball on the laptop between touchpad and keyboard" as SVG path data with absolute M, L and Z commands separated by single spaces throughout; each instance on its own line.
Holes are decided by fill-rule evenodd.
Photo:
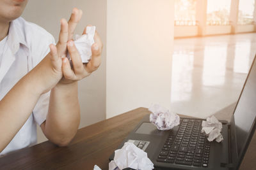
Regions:
M 180 124 L 180 117 L 176 113 L 170 112 L 159 104 L 152 104 L 149 111 L 150 122 L 156 125 L 157 129 L 167 131 Z

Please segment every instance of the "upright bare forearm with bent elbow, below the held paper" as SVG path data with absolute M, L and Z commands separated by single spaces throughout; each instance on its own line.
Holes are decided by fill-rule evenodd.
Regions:
M 77 82 L 56 85 L 51 90 L 49 111 L 41 125 L 45 136 L 60 146 L 74 138 L 80 123 Z

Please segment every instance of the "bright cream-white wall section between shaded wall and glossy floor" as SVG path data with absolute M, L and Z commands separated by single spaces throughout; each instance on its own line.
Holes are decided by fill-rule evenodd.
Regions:
M 108 0 L 106 116 L 170 106 L 174 1 Z

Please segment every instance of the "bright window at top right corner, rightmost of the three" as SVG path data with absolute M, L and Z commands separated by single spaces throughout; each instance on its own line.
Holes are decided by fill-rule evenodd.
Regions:
M 253 11 L 255 0 L 240 0 L 238 12 L 238 25 L 253 24 Z

